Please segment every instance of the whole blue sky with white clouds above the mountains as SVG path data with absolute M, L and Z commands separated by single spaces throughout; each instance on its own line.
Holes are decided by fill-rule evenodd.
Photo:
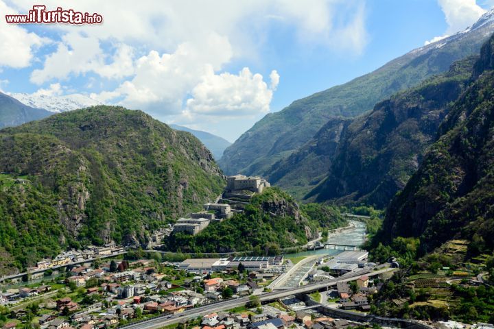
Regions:
M 235 141 L 269 112 L 474 23 L 494 0 L 0 0 L 0 90 L 82 94 Z M 71 7 L 68 7 L 68 6 Z

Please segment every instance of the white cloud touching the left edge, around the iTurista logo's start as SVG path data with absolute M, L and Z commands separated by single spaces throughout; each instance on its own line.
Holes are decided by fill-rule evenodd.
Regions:
M 33 51 L 47 42 L 33 32 L 27 32 L 23 27 L 5 22 L 5 14 L 17 14 L 0 0 L 0 66 L 23 68 L 30 66 Z

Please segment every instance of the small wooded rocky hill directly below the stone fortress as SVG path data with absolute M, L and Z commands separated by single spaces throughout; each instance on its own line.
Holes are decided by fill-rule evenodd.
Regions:
M 242 213 L 210 223 L 196 236 L 172 233 L 166 241 L 169 251 L 252 252 L 279 254 L 281 248 L 304 245 L 318 238 L 318 230 L 346 225 L 337 208 L 320 204 L 298 206 L 277 187 L 266 188 L 252 197 Z

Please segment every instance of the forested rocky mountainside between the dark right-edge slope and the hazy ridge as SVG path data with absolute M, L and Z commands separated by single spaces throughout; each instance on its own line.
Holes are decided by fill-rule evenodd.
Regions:
M 440 123 L 467 84 L 475 58 L 378 103 L 355 119 L 333 154 L 327 178 L 307 195 L 317 202 L 387 206 L 419 167 Z

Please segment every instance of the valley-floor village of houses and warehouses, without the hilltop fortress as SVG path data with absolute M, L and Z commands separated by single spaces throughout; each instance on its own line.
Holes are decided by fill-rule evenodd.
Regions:
M 316 272 L 323 272 L 324 261 L 321 258 L 314 264 L 305 278 L 307 282 L 318 280 Z M 252 296 L 270 291 L 270 284 L 294 266 L 283 256 L 189 258 L 179 263 L 113 259 L 74 266 L 53 280 L 5 289 L 0 294 L 0 304 L 8 321 L 2 328 L 25 323 L 49 329 L 114 328 L 242 296 L 251 296 L 252 305 L 204 316 L 197 327 L 273 329 L 297 324 L 301 328 L 342 328 L 344 322 L 314 318 L 310 310 L 302 311 L 305 303 L 295 296 L 266 305 L 255 302 Z M 342 308 L 365 311 L 366 296 L 379 289 L 379 284 L 373 283 L 362 276 L 314 298 L 316 302 L 337 302 Z

